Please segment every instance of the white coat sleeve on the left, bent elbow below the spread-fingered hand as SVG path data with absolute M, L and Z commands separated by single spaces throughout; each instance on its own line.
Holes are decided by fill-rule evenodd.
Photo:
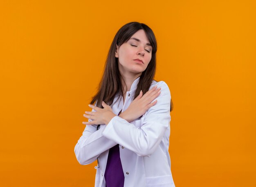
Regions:
M 95 111 L 92 109 L 92 111 Z M 92 121 L 89 119 L 89 121 Z M 97 125 L 86 125 L 83 135 L 75 145 L 76 159 L 81 165 L 88 165 L 95 160 L 104 151 L 117 145 L 116 142 L 104 137 L 102 132 L 106 125 L 101 125 L 97 131 Z

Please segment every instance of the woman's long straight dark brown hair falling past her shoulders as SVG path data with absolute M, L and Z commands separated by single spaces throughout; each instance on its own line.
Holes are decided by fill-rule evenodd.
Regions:
M 116 45 L 121 46 L 140 29 L 143 29 L 145 31 L 146 37 L 150 45 L 152 46 L 152 56 L 150 62 L 148 63 L 148 67 L 145 69 L 145 71 L 142 72 L 139 78 L 134 98 L 139 95 L 139 92 L 141 90 L 143 94 L 145 94 L 150 88 L 150 85 L 155 77 L 157 41 L 155 39 L 155 35 L 152 29 L 150 29 L 150 27 L 148 27 L 146 24 L 139 22 L 130 22 L 125 24 L 119 29 L 119 31 L 117 31 L 117 34 L 112 41 L 104 66 L 103 76 L 99 83 L 97 94 L 92 97 L 92 100 L 90 102 L 91 105 L 94 105 L 94 102 L 97 102 L 96 106 L 99 108 L 103 108 L 102 101 L 106 102 L 107 105 L 112 105 L 115 95 L 117 93 L 119 94 L 119 97 L 124 95 L 121 84 L 122 76 L 118 69 L 118 58 L 115 57 Z M 172 100 L 170 107 L 170 111 L 172 111 Z

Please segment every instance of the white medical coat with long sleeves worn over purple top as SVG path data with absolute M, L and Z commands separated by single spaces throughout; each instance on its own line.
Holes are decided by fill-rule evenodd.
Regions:
M 115 103 L 119 95 L 115 96 L 115 104 L 111 107 L 116 115 L 129 107 L 138 82 L 139 78 L 127 91 L 125 103 L 123 97 Z M 99 156 L 95 187 L 105 187 L 108 151 L 117 144 L 125 177 L 124 187 L 175 187 L 168 153 L 171 94 L 164 81 L 153 81 L 150 89 L 155 85 L 161 87 L 157 103 L 140 118 L 129 123 L 115 116 L 98 131 L 97 125 L 86 125 L 74 152 L 81 165 L 88 165 Z

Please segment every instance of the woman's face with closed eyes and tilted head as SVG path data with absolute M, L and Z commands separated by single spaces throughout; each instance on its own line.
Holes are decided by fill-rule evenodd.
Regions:
M 142 73 L 151 60 L 152 47 L 143 29 L 137 31 L 121 46 L 117 45 L 115 57 L 118 58 L 118 67 L 122 75 L 126 73 Z

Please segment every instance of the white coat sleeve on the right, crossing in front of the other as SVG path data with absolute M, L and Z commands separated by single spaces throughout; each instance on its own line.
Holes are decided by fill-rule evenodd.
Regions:
M 123 145 L 139 156 L 153 154 L 171 121 L 171 94 L 168 85 L 164 81 L 157 82 L 156 85 L 161 87 L 161 94 L 156 98 L 156 105 L 146 112 L 141 128 L 115 116 L 103 130 L 103 136 Z

